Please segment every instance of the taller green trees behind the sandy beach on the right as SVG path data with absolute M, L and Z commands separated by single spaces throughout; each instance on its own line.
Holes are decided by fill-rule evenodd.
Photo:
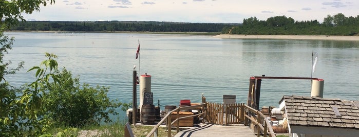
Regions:
M 256 17 L 243 19 L 243 24 L 223 29 L 222 34 L 245 35 L 345 35 L 359 34 L 359 15 L 346 17 L 342 13 L 328 15 L 322 24 L 318 20 L 294 21 L 291 17 L 275 16 L 267 20 Z

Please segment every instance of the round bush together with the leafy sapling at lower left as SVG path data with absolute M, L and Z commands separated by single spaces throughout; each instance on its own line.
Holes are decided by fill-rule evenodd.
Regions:
M 117 115 L 115 108 L 121 104 L 109 100 L 108 87 L 80 86 L 79 78 L 73 79 L 71 72 L 58 70 L 56 55 L 45 56 L 47 60 L 29 70 L 36 72 L 36 80 L 25 85 L 21 96 L 2 83 L 0 135 L 51 136 L 48 129 L 53 124 L 77 127 L 111 122 L 108 115 Z M 58 135 L 72 130 L 64 129 Z

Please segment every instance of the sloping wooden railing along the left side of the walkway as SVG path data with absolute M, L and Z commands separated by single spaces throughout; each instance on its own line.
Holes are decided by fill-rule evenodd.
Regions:
M 193 106 L 185 106 L 185 107 L 177 107 L 176 109 L 167 112 L 167 114 L 162 118 L 162 120 L 160 122 L 158 122 L 158 124 L 147 134 L 146 137 L 149 136 L 158 136 L 158 127 L 160 127 L 160 125 L 167 120 L 166 126 L 167 126 L 167 130 L 168 130 L 168 136 L 171 136 L 171 129 L 172 129 L 172 125 L 176 123 L 176 130 L 177 133 L 179 132 L 179 121 L 181 119 L 185 119 L 188 117 L 199 117 L 199 116 L 204 116 L 205 114 L 205 107 L 206 107 L 206 103 L 203 104 L 199 104 L 199 105 L 193 105 Z M 180 117 L 179 112 L 181 110 L 188 110 L 188 109 L 202 109 L 201 113 L 198 113 L 196 115 L 191 115 L 191 116 L 186 116 L 186 117 Z M 175 119 L 174 121 L 172 121 L 172 112 L 177 112 L 177 119 Z

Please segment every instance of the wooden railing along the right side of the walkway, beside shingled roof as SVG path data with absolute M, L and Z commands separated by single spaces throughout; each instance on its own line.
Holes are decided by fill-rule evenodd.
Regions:
M 260 133 L 263 132 L 263 136 L 267 137 L 269 134 L 271 137 L 275 137 L 275 133 L 273 131 L 272 126 L 269 124 L 266 116 L 263 115 L 260 111 L 248 106 L 244 105 L 244 125 L 248 126 L 249 120 L 251 123 L 257 128 L 257 136 L 260 136 Z M 261 124 L 262 120 L 264 120 L 264 126 Z M 268 126 L 269 125 L 269 126 Z M 269 130 L 269 133 L 268 133 Z

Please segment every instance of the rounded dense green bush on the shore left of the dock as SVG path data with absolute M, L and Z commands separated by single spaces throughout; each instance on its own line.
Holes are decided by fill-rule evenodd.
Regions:
M 121 106 L 107 97 L 109 87 L 89 87 L 80 84 L 80 78 L 72 78 L 65 68 L 55 75 L 61 81 L 51 83 L 48 93 L 44 95 L 46 115 L 56 124 L 66 126 L 99 125 L 100 122 L 111 122 L 109 114 L 118 115 L 115 108 Z

